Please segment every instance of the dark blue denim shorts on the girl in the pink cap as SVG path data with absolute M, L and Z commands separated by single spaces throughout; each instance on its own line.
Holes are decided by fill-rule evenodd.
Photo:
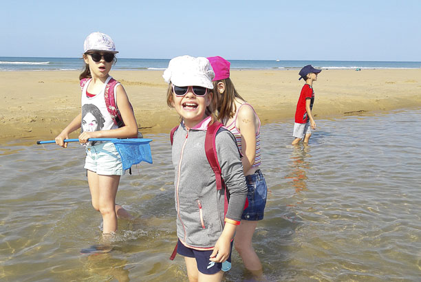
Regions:
M 268 196 L 265 177 L 258 169 L 255 174 L 246 175 L 248 207 L 241 215 L 242 220 L 257 221 L 263 219 Z

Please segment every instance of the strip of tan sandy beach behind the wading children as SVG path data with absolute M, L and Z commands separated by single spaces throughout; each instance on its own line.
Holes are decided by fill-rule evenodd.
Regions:
M 1 72 L 0 138 L 50 140 L 80 111 L 78 71 Z M 177 124 L 166 105 L 162 71 L 111 71 L 125 87 L 140 131 L 166 133 Z M 323 69 L 314 83 L 318 118 L 421 107 L 421 69 Z M 294 122 L 302 80 L 297 69 L 234 70 L 237 91 L 262 124 Z M 78 133 L 73 133 L 76 138 Z

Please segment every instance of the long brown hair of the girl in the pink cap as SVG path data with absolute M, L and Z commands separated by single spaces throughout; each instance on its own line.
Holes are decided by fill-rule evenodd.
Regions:
M 219 93 L 217 89 L 218 83 L 224 83 L 225 85 L 225 91 L 224 93 Z M 237 90 L 235 90 L 234 83 L 231 81 L 231 79 L 225 78 L 213 81 L 213 91 L 214 91 L 214 100 L 216 101 L 216 107 L 218 114 L 217 119 L 218 120 L 224 120 L 233 118 L 235 111 L 237 111 L 237 107 L 235 106 L 234 100 L 235 98 L 240 98 L 241 100 L 244 100 L 238 93 Z

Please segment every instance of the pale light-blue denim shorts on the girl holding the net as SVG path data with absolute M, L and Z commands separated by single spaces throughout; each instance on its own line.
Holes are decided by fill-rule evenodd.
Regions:
M 86 147 L 85 169 L 99 175 L 125 175 L 120 154 L 113 142 Z

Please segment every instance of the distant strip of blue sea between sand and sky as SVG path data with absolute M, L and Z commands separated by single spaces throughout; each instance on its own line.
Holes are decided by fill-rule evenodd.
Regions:
M 322 69 L 417 69 L 421 62 L 375 62 L 375 61 L 261 61 L 229 60 L 231 69 L 299 69 L 312 64 Z M 114 69 L 165 69 L 169 59 L 118 58 Z M 80 58 L 26 58 L 0 57 L 0 71 L 16 70 L 74 70 L 82 69 Z

